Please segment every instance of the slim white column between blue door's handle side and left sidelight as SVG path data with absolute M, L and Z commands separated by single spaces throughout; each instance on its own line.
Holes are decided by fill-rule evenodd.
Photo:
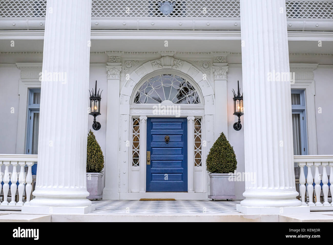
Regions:
M 139 165 L 140 165 L 140 192 L 146 192 L 146 150 L 147 140 L 146 137 L 142 137 L 147 134 L 147 117 L 140 117 L 140 154 L 139 154 Z M 144 140 L 141 140 L 144 139 Z

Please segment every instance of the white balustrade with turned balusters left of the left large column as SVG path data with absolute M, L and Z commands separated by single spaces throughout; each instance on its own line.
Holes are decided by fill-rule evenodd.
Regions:
M 23 205 L 30 205 L 33 181 L 31 167 L 35 162 L 37 162 L 37 155 L 0 154 L 0 168 L 2 165 L 5 166 L 5 172 L 0 172 L 0 183 L 3 181 L 3 185 L 0 184 L 0 192 L 1 189 L 3 191 L 3 201 L 1 202 L 0 210 L 20 210 Z M 27 174 L 24 171 L 25 166 L 28 167 Z M 11 182 L 10 186 L 9 181 Z M 19 183 L 18 186 L 17 182 Z M 10 202 L 7 201 L 9 189 L 11 194 Z M 16 202 L 17 192 L 18 202 Z

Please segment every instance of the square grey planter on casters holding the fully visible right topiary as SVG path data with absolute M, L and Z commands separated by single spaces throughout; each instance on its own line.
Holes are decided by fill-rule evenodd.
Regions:
M 235 199 L 235 182 L 230 181 L 229 178 L 234 179 L 234 174 L 213 174 L 210 173 L 210 195 L 208 198 L 213 199 Z

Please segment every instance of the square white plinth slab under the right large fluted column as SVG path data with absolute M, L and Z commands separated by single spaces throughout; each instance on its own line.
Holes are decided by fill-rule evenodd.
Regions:
M 243 214 L 309 214 L 310 207 L 244 207 L 236 204 L 238 212 Z

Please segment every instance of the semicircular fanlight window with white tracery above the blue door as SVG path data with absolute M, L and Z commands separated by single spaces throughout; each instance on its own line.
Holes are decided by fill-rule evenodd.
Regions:
M 173 104 L 199 104 L 199 94 L 187 80 L 177 75 L 158 75 L 147 80 L 138 90 L 134 103 L 157 104 L 169 100 Z

